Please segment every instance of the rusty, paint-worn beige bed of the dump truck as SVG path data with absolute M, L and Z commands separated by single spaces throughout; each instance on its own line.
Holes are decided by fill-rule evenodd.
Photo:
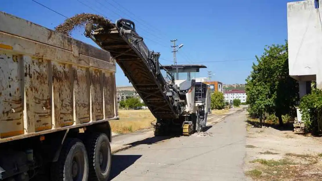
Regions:
M 0 12 L 0 143 L 118 118 L 109 52 Z

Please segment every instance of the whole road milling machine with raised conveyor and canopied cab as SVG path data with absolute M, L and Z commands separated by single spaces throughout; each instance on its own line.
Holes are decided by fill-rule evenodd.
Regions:
M 203 130 L 210 110 L 210 88 L 196 82 L 194 74 L 206 66 L 162 66 L 160 53 L 147 48 L 135 23 L 127 19 L 102 24 L 90 21 L 84 34 L 110 52 L 156 117 L 155 136 L 189 136 Z

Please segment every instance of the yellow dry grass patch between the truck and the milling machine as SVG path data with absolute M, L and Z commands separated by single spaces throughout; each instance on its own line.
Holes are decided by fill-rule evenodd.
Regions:
M 129 133 L 141 129 L 151 128 L 155 117 L 149 110 L 119 110 L 119 120 L 110 121 L 115 133 Z

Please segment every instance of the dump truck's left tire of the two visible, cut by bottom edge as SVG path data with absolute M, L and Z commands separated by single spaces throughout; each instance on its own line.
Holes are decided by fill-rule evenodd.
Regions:
M 66 139 L 58 161 L 52 164 L 53 181 L 87 181 L 89 167 L 85 145 L 76 138 Z

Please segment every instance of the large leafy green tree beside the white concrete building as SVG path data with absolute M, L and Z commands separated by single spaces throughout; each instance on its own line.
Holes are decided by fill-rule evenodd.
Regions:
M 256 59 L 258 64 L 253 63 L 246 79 L 248 111 L 260 121 L 266 113 L 275 114 L 282 126 L 282 115 L 289 114 L 298 100 L 298 84 L 289 76 L 288 42 L 268 46 Z

